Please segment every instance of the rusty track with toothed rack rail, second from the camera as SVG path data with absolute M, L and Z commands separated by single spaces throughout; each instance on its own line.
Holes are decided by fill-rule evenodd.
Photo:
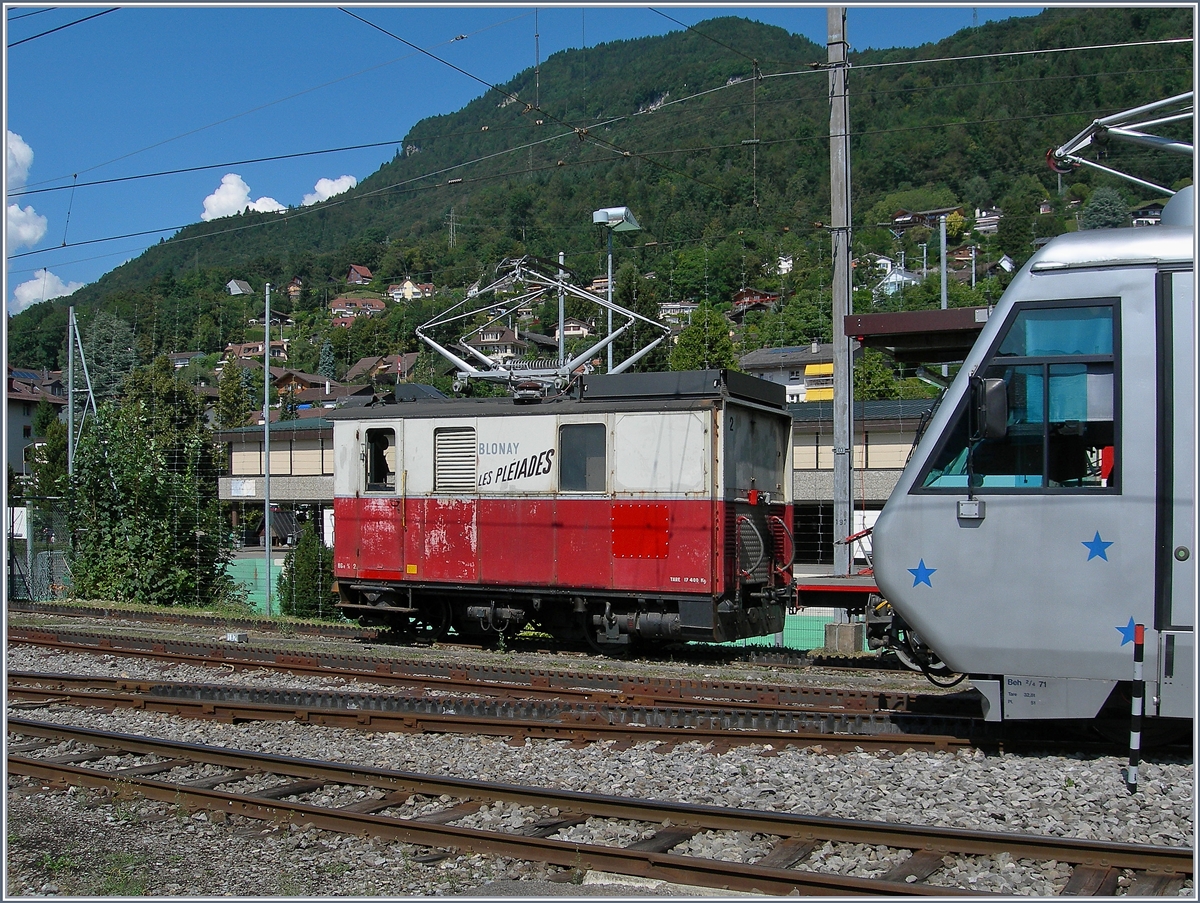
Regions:
M 793 712 L 522 704 L 22 672 L 8 674 L 7 689 L 10 700 L 107 710 L 131 707 L 227 723 L 295 720 L 360 730 L 556 737 L 577 742 L 698 742 L 722 748 L 769 743 L 826 749 L 947 750 L 970 746 L 970 741 L 960 737 L 902 734 L 895 729 L 848 732 L 854 728 L 866 731 L 883 726 L 863 716 L 835 714 L 814 724 Z M 835 728 L 842 732 L 832 732 Z

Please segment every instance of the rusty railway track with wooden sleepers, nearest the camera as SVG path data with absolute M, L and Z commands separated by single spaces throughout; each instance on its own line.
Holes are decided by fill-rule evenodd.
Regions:
M 160 800 L 190 811 L 223 812 L 401 841 L 428 848 L 424 861 L 466 850 L 546 862 L 564 869 L 600 869 L 770 895 L 966 896 L 973 891 L 940 883 L 938 873 L 949 857 L 1001 854 L 1070 863 L 1073 871 L 1064 895 L 1110 895 L 1123 869 L 1133 874 L 1130 895 L 1170 895 L 1193 873 L 1189 849 L 904 826 L 526 788 L 22 718 L 8 719 L 8 732 L 10 776 L 24 776 L 47 785 L 104 788 L 113 794 Z M 529 814 L 520 824 L 511 819 L 498 823 L 478 819 L 485 807 L 497 805 L 526 807 L 523 811 Z M 631 836 L 638 839 L 620 847 L 572 839 L 572 829 L 596 819 L 631 823 L 635 826 Z M 754 862 L 689 855 L 690 838 L 721 832 L 758 837 L 769 849 Z M 890 865 L 877 878 L 817 871 L 820 857 L 814 853 L 829 843 L 886 847 Z

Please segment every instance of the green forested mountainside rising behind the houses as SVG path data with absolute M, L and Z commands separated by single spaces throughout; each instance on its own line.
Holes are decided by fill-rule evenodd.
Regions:
M 1051 217 L 1036 215 L 1038 201 L 1058 191 L 1046 149 L 1099 115 L 1192 85 L 1190 43 L 1103 46 L 1190 36 L 1189 8 L 1068 7 L 937 44 L 852 54 L 856 252 L 906 250 L 919 259 L 919 237 L 901 249 L 878 222 L 894 207 L 920 209 L 924 201 L 968 211 L 1003 207 L 1012 219 L 988 250 L 1024 259 L 1030 238 L 1069 226 L 1062 204 Z M 1052 52 L 1079 47 L 1100 49 Z M 1044 53 L 1016 53 L 1025 50 Z M 641 304 L 721 304 L 743 286 L 780 289 L 794 310 L 748 336 L 820 337 L 828 322 L 821 223 L 829 219 L 829 109 L 828 76 L 814 64 L 824 59 L 824 47 L 738 18 L 558 53 L 536 85 L 530 70 L 500 85 L 504 94 L 418 122 L 403 153 L 346 195 L 190 226 L 70 300 L 18 315 L 10 360 L 56 366 L 68 304 L 84 324 L 96 310 L 124 319 L 143 358 L 216 352 L 244 337 L 262 303 L 228 297 L 229 279 L 260 291 L 300 276 L 295 310 L 282 294 L 275 301 L 313 336 L 299 363 L 314 367 L 328 339 L 344 370 L 358 354 L 414 349 L 412 329 L 427 316 L 395 309 L 326 331 L 323 301 L 344 287 L 352 263 L 370 267 L 379 289 L 408 276 L 461 297 L 504 257 L 564 251 L 566 265 L 590 280 L 605 265 L 590 214 L 613 204 L 632 208 L 644 228 L 618 239 L 618 288 L 630 303 L 634 292 Z M 1110 165 L 1165 185 L 1192 171 L 1190 160 L 1153 151 L 1114 145 L 1110 154 Z M 1062 187 L 1086 197 L 1099 184 L 1118 187 L 1130 204 L 1142 199 L 1138 189 L 1087 171 L 1064 177 Z M 774 265 L 780 256 L 793 259 L 786 276 Z M 647 273 L 656 279 L 638 279 Z

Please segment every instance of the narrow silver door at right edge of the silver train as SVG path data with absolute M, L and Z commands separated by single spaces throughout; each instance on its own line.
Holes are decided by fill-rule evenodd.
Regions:
M 1195 307 L 1192 273 L 1158 285 L 1158 713 L 1190 718 L 1195 672 Z

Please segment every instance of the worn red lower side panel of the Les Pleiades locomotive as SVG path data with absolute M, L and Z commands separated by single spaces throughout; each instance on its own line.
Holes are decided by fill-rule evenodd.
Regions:
M 714 597 L 736 572 L 724 560 L 726 508 L 707 498 L 337 498 L 334 567 L 342 580 Z

